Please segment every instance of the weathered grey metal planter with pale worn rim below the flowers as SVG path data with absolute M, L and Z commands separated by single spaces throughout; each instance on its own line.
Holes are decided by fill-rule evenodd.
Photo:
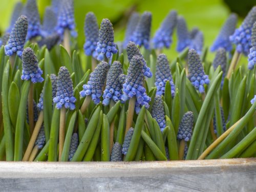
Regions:
M 0 191 L 256 191 L 256 158 L 0 162 Z

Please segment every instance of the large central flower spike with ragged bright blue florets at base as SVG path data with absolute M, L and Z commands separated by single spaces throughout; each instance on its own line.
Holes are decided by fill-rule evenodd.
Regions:
M 135 111 L 137 114 L 140 112 L 142 105 L 145 105 L 146 109 L 150 107 L 148 104 L 150 97 L 146 95 L 146 90 L 143 87 L 143 66 L 143 58 L 139 55 L 133 56 L 127 71 L 125 83 L 123 84 L 123 95 L 121 97 L 123 101 L 136 97 Z

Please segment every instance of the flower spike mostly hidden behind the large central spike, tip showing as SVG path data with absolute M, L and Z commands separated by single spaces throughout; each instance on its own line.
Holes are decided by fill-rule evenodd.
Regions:
M 133 56 L 135 56 L 135 55 L 139 55 L 143 59 L 144 76 L 151 78 L 152 72 L 151 72 L 150 68 L 147 67 L 146 61 L 145 61 L 143 55 L 140 53 L 139 48 L 135 45 L 135 43 L 133 41 L 129 41 L 127 48 L 126 48 L 126 52 L 127 52 L 127 57 L 128 57 L 129 62 L 131 62 Z

